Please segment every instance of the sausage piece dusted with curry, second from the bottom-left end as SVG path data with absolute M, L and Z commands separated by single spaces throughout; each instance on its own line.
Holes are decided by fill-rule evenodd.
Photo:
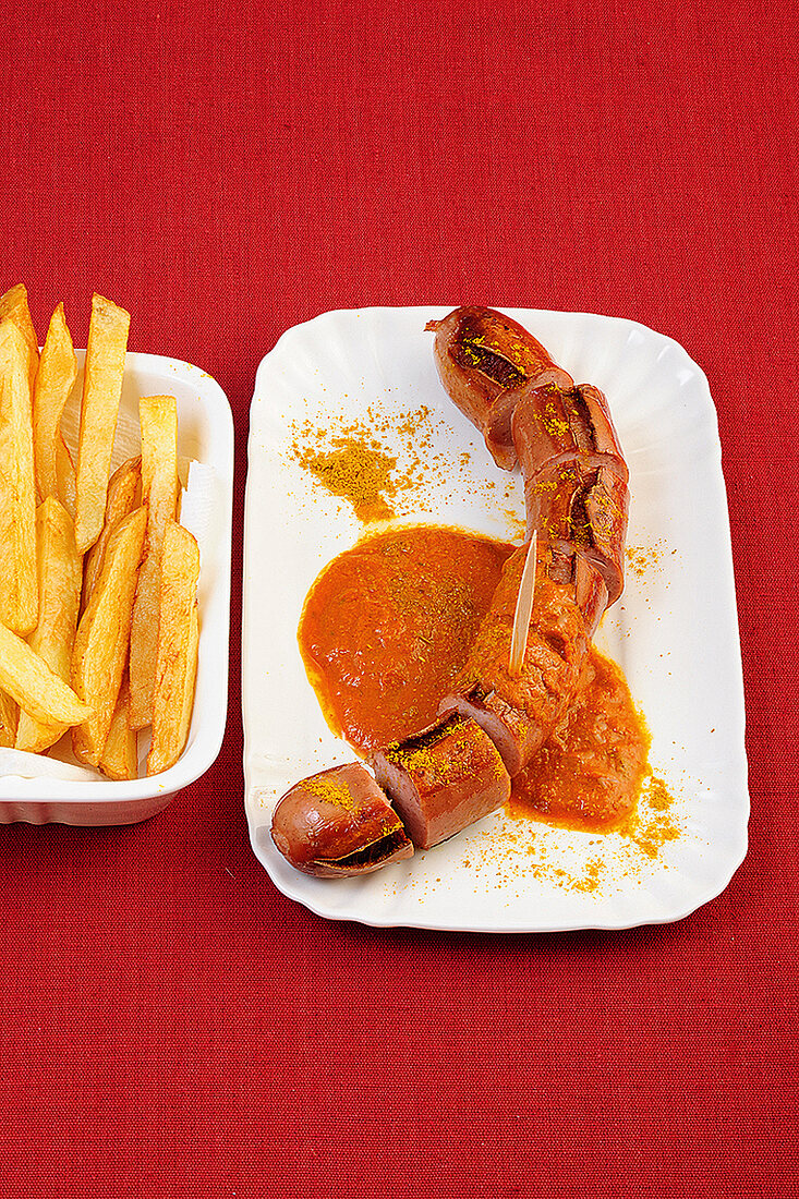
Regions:
M 420 849 L 461 832 L 510 796 L 510 778 L 493 742 L 459 716 L 388 746 L 372 766 Z

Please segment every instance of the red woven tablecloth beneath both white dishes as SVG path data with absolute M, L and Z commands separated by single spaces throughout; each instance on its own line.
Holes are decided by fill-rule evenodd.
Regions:
M 795 5 L 6 6 L 0 290 L 92 290 L 238 435 L 228 735 L 148 824 L 0 830 L 2 1194 L 798 1193 Z M 328 308 L 572 308 L 685 345 L 717 404 L 750 854 L 680 923 L 320 921 L 253 858 L 247 409 Z

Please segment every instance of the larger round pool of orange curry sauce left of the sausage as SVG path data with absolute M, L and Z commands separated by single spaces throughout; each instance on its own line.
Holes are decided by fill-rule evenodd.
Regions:
M 432 724 L 515 548 L 413 525 L 365 537 L 325 567 L 299 640 L 337 735 L 367 751 Z

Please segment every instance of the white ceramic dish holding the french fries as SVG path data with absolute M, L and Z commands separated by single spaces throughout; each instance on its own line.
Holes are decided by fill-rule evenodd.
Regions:
M 74 440 L 80 373 L 64 415 L 67 444 Z M 30 824 L 119 825 L 145 820 L 164 808 L 181 788 L 216 759 L 227 721 L 228 641 L 230 627 L 230 526 L 233 510 L 233 417 L 224 392 L 209 374 L 187 362 L 152 354 L 128 354 L 120 403 L 113 466 L 138 452 L 138 400 L 175 396 L 178 452 L 202 463 L 199 504 L 191 528 L 200 546 L 198 590 L 200 644 L 194 713 L 184 753 L 162 775 L 118 783 L 91 779 L 0 776 L 0 821 Z M 190 524 L 188 519 L 185 523 Z M 140 737 L 140 759 L 146 753 Z

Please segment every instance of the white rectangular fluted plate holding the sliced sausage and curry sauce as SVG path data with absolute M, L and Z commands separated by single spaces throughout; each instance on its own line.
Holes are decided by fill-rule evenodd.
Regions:
M 643 831 L 630 838 L 495 813 L 410 862 L 334 881 L 298 873 L 271 843 L 280 795 L 304 776 L 354 757 L 325 724 L 296 626 L 318 572 L 364 529 L 352 507 L 300 465 L 304 422 L 305 436 L 322 444 L 353 423 L 372 427 L 397 456 L 397 470 L 413 471 L 401 430 L 415 412 L 425 469 L 416 469 L 419 486 L 397 496 L 398 516 L 518 540 L 521 481 L 493 465 L 434 370 L 425 323 L 447 311 L 326 313 L 289 330 L 258 370 L 242 647 L 253 850 L 284 894 L 330 918 L 485 932 L 678 920 L 717 896 L 746 852 L 740 647 L 707 379 L 675 342 L 627 320 L 507 309 L 578 381 L 594 382 L 609 397 L 630 465 L 633 568 L 597 644 L 624 668 L 647 718 L 653 773 L 672 796 L 667 819 L 656 802 L 644 803 Z M 427 416 L 419 415 L 422 405 Z M 674 839 L 660 836 L 663 824 Z M 647 830 L 654 830 L 654 840 Z

